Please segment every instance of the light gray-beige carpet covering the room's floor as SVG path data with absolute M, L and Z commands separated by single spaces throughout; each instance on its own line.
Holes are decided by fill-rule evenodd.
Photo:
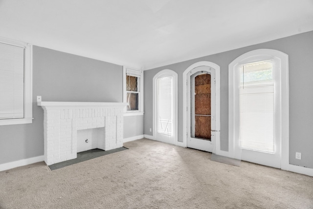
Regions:
M 50 170 L 0 172 L 1 209 L 313 209 L 313 177 L 141 139 Z

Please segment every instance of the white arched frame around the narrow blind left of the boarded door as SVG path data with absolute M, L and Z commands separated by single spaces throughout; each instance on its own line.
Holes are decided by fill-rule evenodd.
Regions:
M 161 70 L 153 77 L 153 139 L 156 140 L 156 79 L 164 74 L 168 74 L 173 78 L 174 108 L 173 108 L 173 134 L 174 145 L 178 145 L 178 74 L 169 69 Z

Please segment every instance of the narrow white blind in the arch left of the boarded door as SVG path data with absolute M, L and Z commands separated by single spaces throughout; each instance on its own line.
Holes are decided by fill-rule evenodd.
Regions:
M 172 77 L 157 79 L 157 132 L 172 136 Z

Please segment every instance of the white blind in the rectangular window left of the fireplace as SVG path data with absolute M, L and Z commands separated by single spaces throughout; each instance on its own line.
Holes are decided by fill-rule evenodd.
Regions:
M 24 118 L 24 48 L 0 43 L 0 119 Z

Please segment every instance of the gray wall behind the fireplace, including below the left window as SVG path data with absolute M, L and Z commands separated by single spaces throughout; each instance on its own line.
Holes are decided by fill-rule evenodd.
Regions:
M 44 110 L 37 106 L 37 95 L 43 101 L 122 102 L 122 72 L 120 65 L 34 46 L 34 120 L 32 124 L 0 126 L 0 164 L 44 154 Z M 139 124 L 143 134 L 142 122 Z

